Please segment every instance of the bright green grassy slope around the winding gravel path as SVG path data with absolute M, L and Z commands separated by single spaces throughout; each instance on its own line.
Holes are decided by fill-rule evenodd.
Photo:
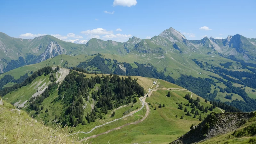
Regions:
M 93 76 L 93 75 L 89 75 Z M 94 75 L 95 76 L 95 75 Z M 137 77 L 133 76 L 132 78 L 138 78 L 139 83 L 146 81 L 145 77 Z M 156 79 L 150 78 L 152 81 L 156 81 Z M 175 84 L 168 83 L 164 80 L 157 80 L 160 89 L 163 88 L 181 88 L 180 86 L 177 86 Z M 149 88 L 151 86 L 148 86 Z M 181 88 L 183 89 L 183 88 Z M 166 97 L 166 94 L 168 93 L 168 90 L 157 90 L 153 91 L 150 97 L 146 98 L 146 102 L 149 105 L 149 115 L 148 117 L 138 124 L 131 124 L 122 127 L 120 130 L 114 130 L 107 134 L 102 134 L 100 136 L 97 136 L 96 138 L 91 138 L 89 141 L 93 141 L 94 143 L 167 143 L 170 140 L 176 139 L 178 136 L 185 134 L 189 131 L 189 127 L 195 123 L 199 124 L 200 121 L 198 120 L 199 116 L 196 116 L 196 118 L 193 118 L 190 116 L 186 116 L 185 114 L 187 112 L 184 112 L 183 110 L 178 109 L 178 103 L 188 103 L 188 100 L 184 99 L 184 96 L 189 92 L 179 91 L 179 90 L 171 90 L 171 97 Z M 191 93 L 190 93 L 191 94 Z M 193 98 L 197 98 L 198 96 L 193 94 Z M 199 97 L 200 98 L 200 97 Z M 159 104 L 165 104 L 165 107 L 158 108 Z M 204 107 L 211 106 L 211 104 L 205 103 L 203 98 L 200 98 L 200 104 Z M 152 106 L 152 107 L 151 107 Z M 135 107 L 135 106 L 134 106 Z M 154 108 L 156 107 L 156 110 Z M 129 107 L 125 107 L 130 108 Z M 124 111 L 125 108 L 119 109 L 120 111 Z M 185 106 L 184 106 L 185 108 Z M 123 110 L 122 110 L 123 109 Z M 192 108 L 187 107 L 188 111 L 191 111 Z M 129 116 L 123 120 L 118 120 L 118 122 L 110 123 L 107 125 L 102 126 L 99 129 L 95 129 L 92 133 L 89 134 L 83 134 L 79 133 L 78 137 L 80 139 L 90 137 L 92 135 L 97 135 L 102 132 L 106 132 L 108 130 L 111 130 L 113 128 L 116 128 L 118 126 L 122 126 L 123 124 L 129 124 L 131 122 L 136 122 L 140 120 L 142 117 L 145 116 L 146 109 L 142 110 L 140 113 L 136 113 L 133 116 Z M 214 112 L 221 113 L 221 110 L 218 108 L 215 108 L 213 110 Z M 211 111 L 208 111 L 208 114 L 210 114 Z M 175 117 L 175 116 L 178 117 Z M 180 117 L 184 115 L 184 118 L 181 119 Z M 200 113 L 200 115 L 204 118 L 207 116 L 206 113 Z M 109 115 L 110 116 L 110 115 Z M 140 117 L 139 119 L 137 117 Z M 119 117 L 116 117 L 119 118 Z M 101 124 L 100 120 L 97 121 L 98 125 Z M 87 124 L 88 125 L 88 124 Z M 90 129 L 84 129 L 84 126 L 80 128 L 79 125 L 79 131 L 88 132 Z M 115 136 L 114 139 L 110 139 L 110 137 Z

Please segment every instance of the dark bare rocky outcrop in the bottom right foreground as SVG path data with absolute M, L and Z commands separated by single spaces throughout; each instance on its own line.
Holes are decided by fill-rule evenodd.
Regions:
M 193 127 L 179 139 L 172 141 L 170 144 L 191 144 L 208 140 L 214 136 L 225 134 L 236 130 L 255 113 L 211 113 L 205 120 Z

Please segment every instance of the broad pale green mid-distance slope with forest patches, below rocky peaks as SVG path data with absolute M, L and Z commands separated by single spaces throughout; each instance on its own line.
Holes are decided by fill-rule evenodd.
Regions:
M 174 78 L 175 81 L 179 79 L 180 76 L 182 75 L 188 75 L 188 76 L 191 75 L 195 78 L 197 77 L 210 78 L 214 81 L 214 83 L 211 84 L 211 90 L 208 90 L 207 93 L 206 92 L 204 92 L 204 94 L 197 93 L 201 97 L 207 98 L 206 95 L 210 95 L 214 91 L 217 91 L 217 95 L 214 97 L 214 99 L 211 99 L 211 100 L 221 100 L 223 102 L 230 102 L 230 103 L 236 100 L 239 103 L 242 103 L 239 105 L 244 105 L 244 102 L 248 103 L 248 101 L 245 100 L 244 98 L 245 95 L 244 94 L 242 95 L 241 93 L 237 93 L 236 92 L 237 90 L 231 93 L 221 91 L 219 87 L 221 87 L 222 89 L 225 89 L 227 88 L 227 86 L 223 82 L 219 82 L 219 80 L 212 77 L 214 76 L 217 78 L 222 78 L 223 81 L 225 82 L 232 83 L 234 87 L 241 87 L 241 86 L 243 87 L 244 85 L 246 86 L 246 83 L 250 83 L 249 86 L 247 85 L 245 87 L 244 91 L 249 98 L 253 99 L 252 101 L 255 101 L 254 99 L 256 98 L 255 96 L 256 93 L 253 92 L 253 88 L 252 88 L 254 86 L 253 85 L 254 77 L 252 78 L 252 76 L 247 76 L 246 79 L 244 77 L 243 79 L 240 80 L 240 79 L 236 79 L 236 77 L 232 77 L 228 75 L 227 77 L 224 77 L 226 75 L 223 75 L 222 73 L 218 73 L 218 70 L 216 70 L 216 68 L 222 68 L 222 70 L 226 70 L 230 72 L 239 70 L 239 72 L 241 72 L 241 75 L 242 74 L 244 75 L 244 71 L 249 72 L 249 74 L 252 75 L 253 73 L 250 70 L 244 68 L 242 63 L 237 63 L 233 60 L 226 59 L 215 53 L 211 53 L 208 55 L 198 54 L 196 55 L 196 57 L 197 59 L 194 59 L 192 55 L 180 54 L 179 52 L 176 53 L 175 51 L 174 52 L 170 51 L 163 54 L 148 53 L 147 55 L 139 52 L 130 52 L 124 56 L 109 54 L 109 53 L 103 53 L 102 55 L 76 55 L 76 56 L 59 55 L 54 58 L 40 62 L 38 64 L 27 65 L 27 66 L 23 66 L 23 67 L 11 70 L 7 73 L 2 74 L 0 77 L 2 78 L 4 77 L 4 75 L 10 74 L 14 76 L 15 79 L 17 79 L 20 76 L 23 76 L 25 73 L 30 73 L 33 70 L 35 71 L 38 68 L 48 66 L 48 65 L 50 66 L 60 65 L 62 67 L 76 66 L 76 67 L 84 68 L 89 72 L 97 71 L 97 73 L 108 73 L 108 74 L 115 73 L 118 75 L 127 75 L 127 76 L 137 75 L 137 76 L 144 76 L 144 77 L 161 78 L 164 80 L 168 80 L 166 79 L 166 76 L 171 76 L 172 78 Z M 117 62 L 115 60 L 117 60 Z M 123 65 L 124 62 L 128 63 L 131 66 L 131 68 L 124 66 Z M 202 63 L 202 66 L 200 65 L 200 63 Z M 231 63 L 231 65 L 229 67 L 226 67 L 225 65 L 223 65 L 226 63 Z M 145 70 L 143 69 L 143 67 L 138 68 L 139 65 L 140 66 L 144 65 L 144 67 L 146 68 L 148 66 L 152 67 L 152 69 L 156 68 L 156 71 L 153 71 L 152 69 Z M 119 70 L 118 70 L 118 67 L 120 67 Z M 133 71 L 134 69 L 137 69 L 137 70 Z M 212 70 L 215 70 L 215 71 L 213 72 Z M 253 70 L 253 68 L 251 68 L 251 70 Z M 136 73 L 137 71 L 139 72 Z M 148 71 L 153 71 L 153 72 L 147 73 Z M 160 75 L 161 77 L 159 77 Z M 240 74 L 237 74 L 237 75 L 239 76 Z M 250 80 L 248 77 L 251 77 L 252 79 Z M 169 82 L 174 83 L 174 80 Z M 197 80 L 200 80 L 200 79 L 197 79 Z M 196 82 L 197 80 L 193 79 L 191 81 L 192 83 L 197 83 Z M 9 85 L 11 86 L 11 84 L 12 83 L 8 83 L 7 85 L 5 85 L 5 87 Z M 181 85 L 181 86 L 183 86 L 184 88 L 191 88 L 190 90 L 193 92 L 195 92 L 196 89 L 198 91 L 203 91 L 203 89 L 205 89 L 205 88 L 202 88 L 201 90 L 198 87 L 196 87 L 198 84 L 191 84 L 191 86 L 186 87 L 187 85 L 188 84 Z M 232 95 L 232 99 L 225 98 L 226 95 Z M 237 107 L 236 104 L 233 104 L 232 106 Z M 252 106 L 250 105 L 250 107 Z M 253 109 L 255 108 L 252 108 L 252 110 Z M 243 108 L 243 111 L 244 110 L 246 109 Z

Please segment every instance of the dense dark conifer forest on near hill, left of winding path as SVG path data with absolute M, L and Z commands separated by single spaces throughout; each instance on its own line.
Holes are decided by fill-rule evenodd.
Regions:
M 95 84 L 100 84 L 100 88 L 92 91 Z M 54 100 L 64 105 L 59 122 L 63 125 L 75 126 L 83 123 L 85 101 L 89 100 L 90 93 L 96 105 L 92 112 L 86 115 L 88 123 L 102 118 L 108 110 L 131 103 L 137 96 L 143 96 L 144 88 L 130 76 L 120 78 L 117 75 L 101 77 L 97 75 L 86 78 L 83 73 L 73 71 L 65 77 L 59 87 L 59 97 Z

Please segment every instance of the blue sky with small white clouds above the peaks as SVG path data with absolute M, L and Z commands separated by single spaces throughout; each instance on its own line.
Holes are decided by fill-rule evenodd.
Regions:
M 237 33 L 255 38 L 255 5 L 255 0 L 1 1 L 0 31 L 17 38 L 49 34 L 62 40 L 124 42 L 172 27 L 193 40 Z

